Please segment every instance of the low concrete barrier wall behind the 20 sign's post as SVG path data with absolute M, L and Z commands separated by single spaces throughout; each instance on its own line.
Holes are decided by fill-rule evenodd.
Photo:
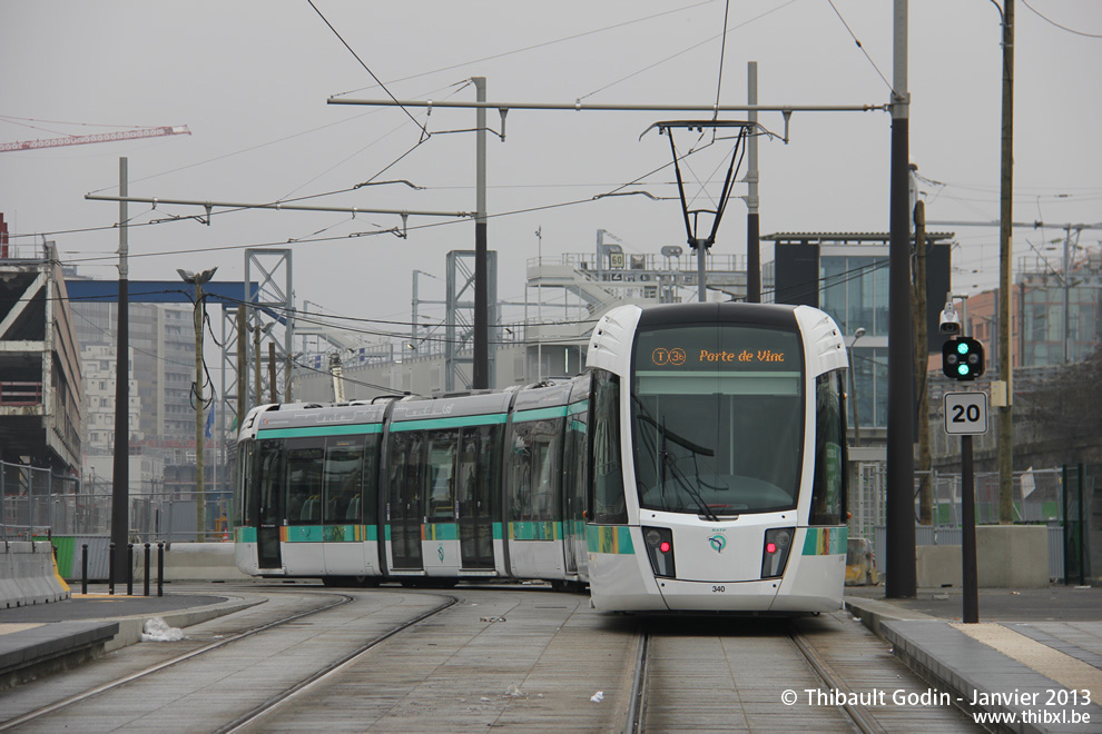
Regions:
M 961 546 L 916 548 L 921 588 L 963 586 Z M 1049 585 L 1049 529 L 1043 525 L 976 527 L 976 575 L 981 588 L 1034 588 Z

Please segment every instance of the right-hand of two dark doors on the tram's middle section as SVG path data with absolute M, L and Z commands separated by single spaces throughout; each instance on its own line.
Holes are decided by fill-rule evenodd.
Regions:
M 493 568 L 493 517 L 490 487 L 495 455 L 490 426 L 464 428 L 460 445 L 459 506 L 460 556 L 463 568 Z

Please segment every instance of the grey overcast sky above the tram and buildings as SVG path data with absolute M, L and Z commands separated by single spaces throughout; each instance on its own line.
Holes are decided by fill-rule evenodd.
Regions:
M 718 91 L 721 103 L 742 105 L 752 60 L 762 105 L 884 105 L 893 78 L 888 0 L 731 0 L 729 9 L 720 0 L 314 3 L 319 12 L 305 0 L 4 2 L 0 141 L 117 129 L 100 126 L 191 131 L 0 153 L 0 211 L 9 229 L 45 232 L 82 274 L 116 278 L 118 205 L 85 195 L 118 192 L 121 156 L 138 197 L 264 202 L 405 179 L 423 189 L 365 187 L 308 202 L 474 209 L 474 136 L 444 135 L 473 127 L 472 110 L 437 108 L 426 118 L 417 109 L 327 105 L 336 95 L 473 100 L 464 82 L 483 76 L 491 101 L 712 105 Z M 1014 219 L 1050 226 L 1015 230 L 1016 257 L 1034 257 L 1033 248 L 1061 238 L 1054 226 L 1102 222 L 1102 3 L 1015 3 Z M 909 14 L 911 158 L 928 179 L 927 219 L 996 220 L 998 10 L 991 0 L 916 0 Z M 499 252 L 500 297 L 523 297 L 538 228 L 544 257 L 592 252 L 598 229 L 629 252 L 683 245 L 675 200 L 593 200 L 656 169 L 630 189 L 676 196 L 668 141 L 653 132 L 640 140 L 648 126 L 671 117 L 687 116 L 509 113 L 505 141 L 489 141 L 489 241 Z M 779 115 L 759 121 L 784 130 Z M 489 122 L 500 128 L 496 112 Z M 761 232 L 886 231 L 889 138 L 883 111 L 797 112 L 788 145 L 760 142 Z M 687 177 L 712 178 L 729 145 L 692 156 Z M 735 196 L 745 192 L 739 185 Z M 200 212 L 134 204 L 129 214 L 131 224 L 145 225 Z M 732 201 L 717 255 L 745 255 L 745 205 Z M 411 271 L 439 277 L 422 279 L 421 297 L 442 298 L 444 256 L 473 249 L 474 225 L 411 217 L 405 239 L 346 237 L 400 225 L 384 215 L 252 211 L 218 215 L 209 227 L 132 227 L 130 278 L 176 279 L 176 268 L 217 266 L 219 280 L 239 280 L 244 247 L 292 247 L 299 306 L 307 299 L 334 314 L 407 320 Z M 993 287 L 997 229 L 955 231 L 954 288 Z M 335 239 L 287 245 L 318 238 Z M 1085 231 L 1080 244 L 1100 239 L 1102 231 Z M 1059 264 L 1059 250 L 1044 255 Z M 422 310 L 442 315 L 442 307 Z

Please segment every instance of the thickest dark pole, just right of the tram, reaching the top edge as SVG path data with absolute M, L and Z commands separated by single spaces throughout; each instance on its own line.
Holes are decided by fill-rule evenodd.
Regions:
M 907 91 L 907 0 L 894 0 L 892 166 L 888 251 L 887 578 L 885 596 L 917 592 L 914 510 L 914 381 L 911 378 L 911 95 Z

